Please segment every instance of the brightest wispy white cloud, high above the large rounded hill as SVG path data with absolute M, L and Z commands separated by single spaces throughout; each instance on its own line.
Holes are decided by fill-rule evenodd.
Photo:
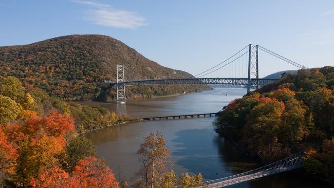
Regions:
M 145 18 L 131 11 L 116 10 L 110 5 L 92 1 L 72 0 L 73 3 L 87 5 L 91 10 L 86 12 L 85 20 L 106 27 L 135 29 L 145 26 Z

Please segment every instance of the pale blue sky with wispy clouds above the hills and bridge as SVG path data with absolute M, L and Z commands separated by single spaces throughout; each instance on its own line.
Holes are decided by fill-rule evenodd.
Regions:
M 334 1 L 0 1 L 0 46 L 69 34 L 112 36 L 197 74 L 258 44 L 308 68 L 334 66 Z M 259 74 L 296 69 L 259 51 Z

